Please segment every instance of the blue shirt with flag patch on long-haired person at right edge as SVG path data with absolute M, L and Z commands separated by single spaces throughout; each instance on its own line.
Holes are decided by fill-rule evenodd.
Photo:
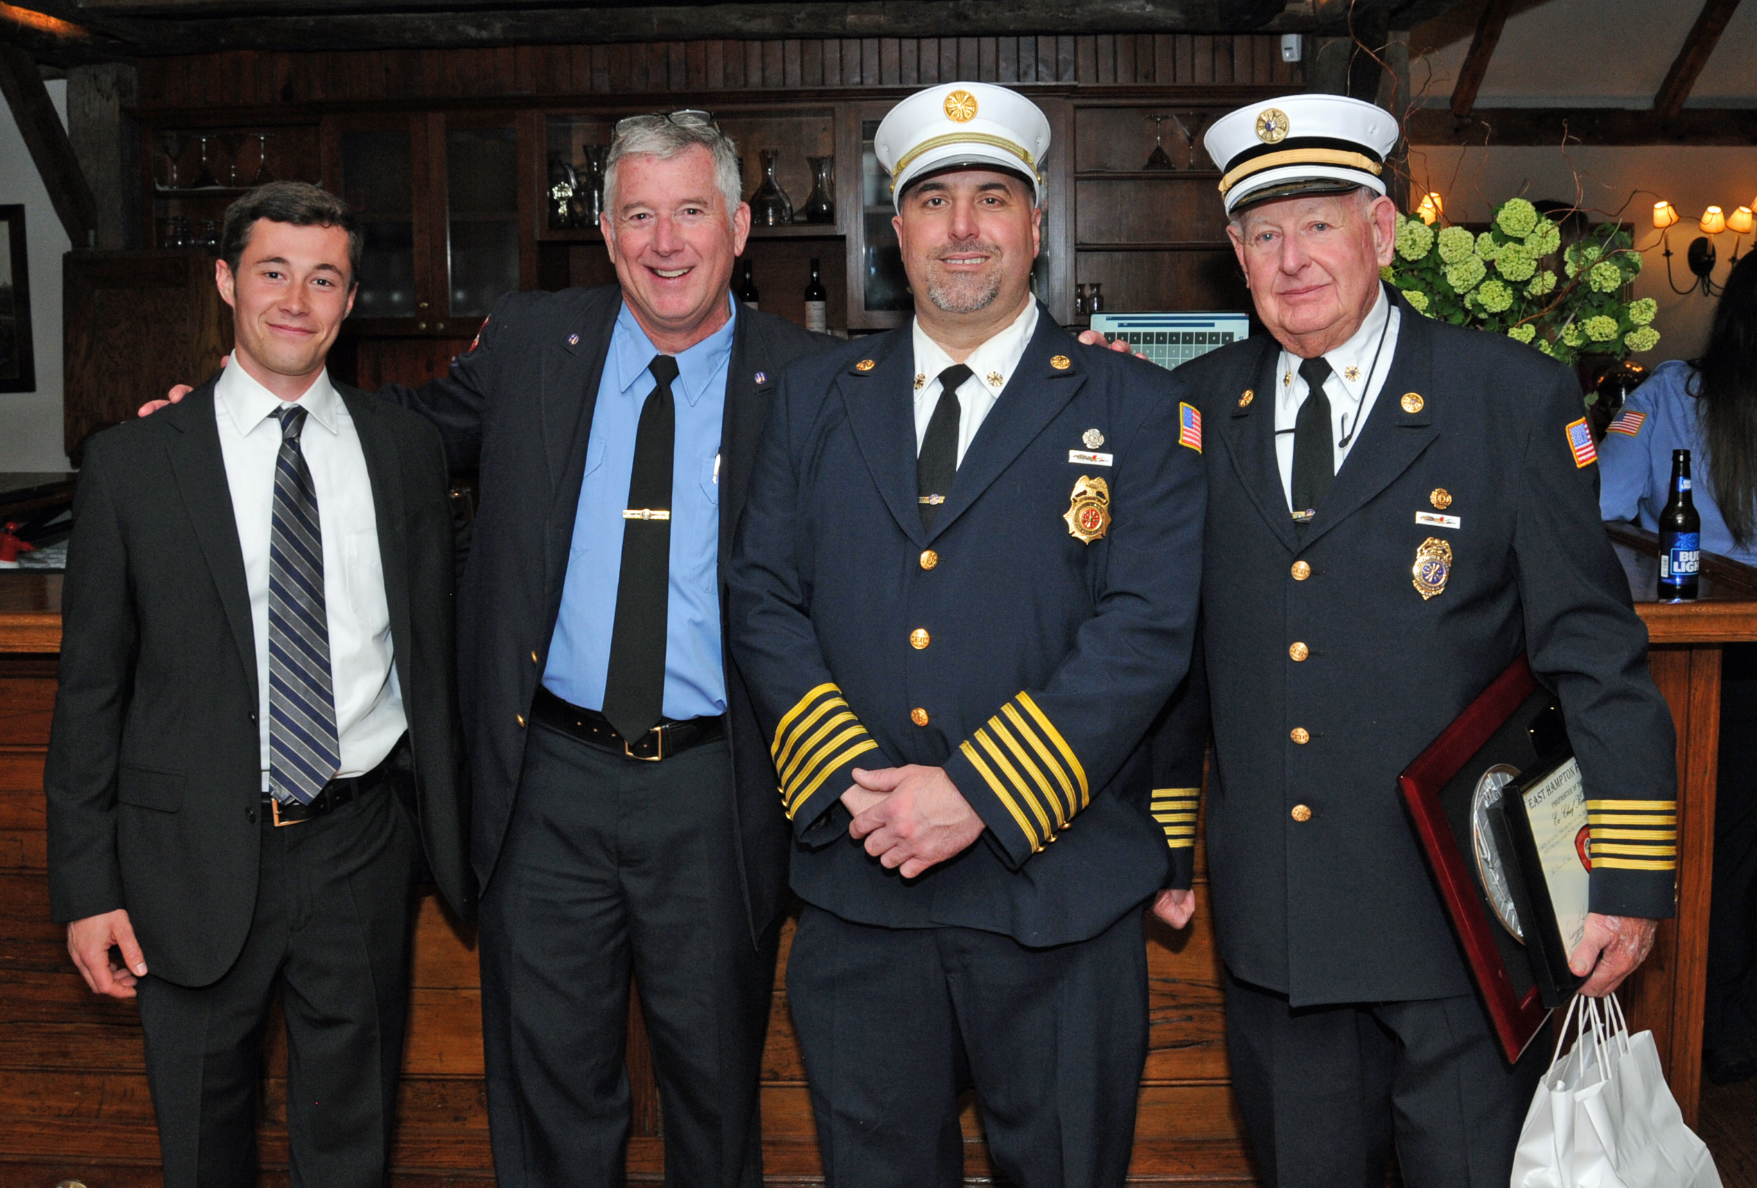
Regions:
M 1703 517 L 1703 548 L 1757 564 L 1757 548 L 1739 548 L 1715 506 L 1708 482 L 1713 464 L 1703 445 L 1703 425 L 1688 383 L 1696 369 L 1673 359 L 1653 369 L 1646 383 L 1629 394 L 1623 411 L 1599 445 L 1599 515 L 1606 520 L 1636 520 L 1650 532 L 1659 531 L 1659 513 L 1671 497 L 1671 452 L 1690 452 L 1690 499 Z M 1634 413 L 1639 417 L 1636 424 Z

